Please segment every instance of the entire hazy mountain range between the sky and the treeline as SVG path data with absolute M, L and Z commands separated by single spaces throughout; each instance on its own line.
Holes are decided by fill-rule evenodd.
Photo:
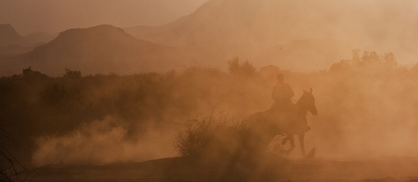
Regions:
M 29 66 L 51 75 L 62 74 L 64 67 L 83 74 L 167 71 L 193 64 L 225 68 L 234 57 L 248 59 L 256 68 L 273 64 L 317 71 L 349 59 L 352 49 L 393 52 L 402 63 L 415 64 L 408 59 L 418 56 L 418 27 L 406 25 L 418 22 L 418 16 L 411 16 L 416 6 L 397 1 L 209 0 L 166 25 L 66 30 L 30 53 L 3 58 L 0 75 Z M 3 27 L 10 34 L 7 41 L 18 37 L 10 25 Z M 34 40 L 42 33 L 30 36 Z M 13 54 L 5 54 L 12 49 Z M 0 46 L 0 58 L 24 52 Z

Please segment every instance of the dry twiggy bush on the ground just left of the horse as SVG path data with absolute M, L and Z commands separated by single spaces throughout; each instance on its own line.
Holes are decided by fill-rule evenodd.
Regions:
M 175 148 L 181 156 L 193 153 L 237 154 L 248 140 L 247 121 L 247 117 L 230 116 L 227 112 L 189 120 L 181 124 Z

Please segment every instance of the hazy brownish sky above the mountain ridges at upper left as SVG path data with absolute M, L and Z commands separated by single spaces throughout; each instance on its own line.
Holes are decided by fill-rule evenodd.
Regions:
M 196 10 L 208 0 L 0 0 L 0 24 L 26 35 L 110 24 L 158 26 Z

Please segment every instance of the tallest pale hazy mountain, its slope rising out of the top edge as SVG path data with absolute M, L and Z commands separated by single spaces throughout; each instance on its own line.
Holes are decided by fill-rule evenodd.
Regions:
M 169 24 L 124 30 L 166 46 L 212 42 L 244 59 L 293 40 L 325 38 L 416 62 L 417 12 L 413 1 L 209 0 Z

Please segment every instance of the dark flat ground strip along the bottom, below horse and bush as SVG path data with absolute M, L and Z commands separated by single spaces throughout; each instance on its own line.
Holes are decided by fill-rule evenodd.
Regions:
M 204 164 L 205 163 L 205 164 Z M 418 157 L 196 162 L 173 157 L 136 163 L 51 165 L 32 182 L 418 182 Z

